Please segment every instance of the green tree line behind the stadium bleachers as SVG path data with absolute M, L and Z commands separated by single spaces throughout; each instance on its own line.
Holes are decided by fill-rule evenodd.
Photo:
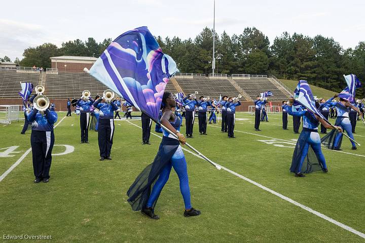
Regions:
M 212 72 L 213 31 L 205 27 L 195 39 L 156 37 L 164 53 L 172 56 L 181 73 Z M 62 43 L 57 47 L 45 43 L 24 50 L 22 66 L 50 67 L 50 57 L 60 55 L 98 57 L 111 43 L 94 38 Z M 346 83 L 344 74 L 355 74 L 365 83 L 365 42 L 352 49 L 344 49 L 333 38 L 309 37 L 284 32 L 272 44 L 255 27 L 247 27 L 241 34 L 229 36 L 225 31 L 215 34 L 215 73 L 267 74 L 281 79 L 307 80 L 310 84 L 340 92 Z M 19 61 L 19 60 L 18 60 Z M 364 84 L 365 86 L 365 84 Z M 356 90 L 364 95 L 365 89 Z

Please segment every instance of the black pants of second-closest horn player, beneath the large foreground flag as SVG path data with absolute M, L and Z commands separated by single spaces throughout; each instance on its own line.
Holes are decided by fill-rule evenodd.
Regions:
M 98 143 L 100 157 L 109 157 L 112 151 L 114 136 L 114 120 L 99 119 L 98 124 Z

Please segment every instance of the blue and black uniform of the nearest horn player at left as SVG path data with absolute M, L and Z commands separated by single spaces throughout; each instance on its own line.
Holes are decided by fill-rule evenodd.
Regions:
M 28 114 L 32 132 L 30 144 L 35 180 L 34 183 L 49 181 L 49 170 L 52 163 L 52 149 L 55 141 L 53 124 L 57 121 L 57 113 L 46 109 L 44 114 L 33 109 Z

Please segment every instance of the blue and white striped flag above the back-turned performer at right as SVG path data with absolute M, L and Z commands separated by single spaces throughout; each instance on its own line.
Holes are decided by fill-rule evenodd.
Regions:
M 315 106 L 315 99 L 307 81 L 299 81 L 297 88 L 294 91 L 294 99 L 300 103 L 300 105 L 307 108 L 308 111 L 324 119 L 323 115 Z

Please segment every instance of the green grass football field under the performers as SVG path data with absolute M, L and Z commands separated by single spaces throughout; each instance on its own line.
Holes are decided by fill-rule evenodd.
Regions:
M 58 121 L 64 116 L 59 113 Z M 355 138 L 363 144 L 358 150 L 352 151 L 348 140 L 341 152 L 323 150 L 329 173 L 295 178 L 289 167 L 298 134 L 289 118 L 289 130 L 283 131 L 281 114 L 269 114 L 269 122 L 262 122 L 257 132 L 254 117 L 238 113 L 236 139 L 221 133 L 220 124 L 208 124 L 208 135 L 200 136 L 195 124 L 195 138 L 188 142 L 214 162 L 364 233 L 365 126 L 358 123 L 356 128 Z M 161 141 L 151 134 L 152 145 L 141 145 L 140 123 L 115 121 L 113 160 L 99 161 L 97 133 L 89 132 L 90 144 L 79 144 L 79 117 L 63 119 L 55 128 L 55 145 L 75 150 L 53 156 L 50 182 L 33 184 L 31 153 L 0 182 L 0 242 L 24 241 L 4 239 L 8 234 L 52 235 L 49 242 L 365 242 L 188 152 L 192 204 L 201 216 L 182 216 L 174 171 L 156 206 L 160 220 L 132 212 L 126 192 L 153 161 Z M 0 152 L 19 146 L 13 157 L 0 157 L 0 175 L 30 148 L 30 130 L 21 135 L 21 126 L 0 125 Z M 55 146 L 53 153 L 64 150 Z

